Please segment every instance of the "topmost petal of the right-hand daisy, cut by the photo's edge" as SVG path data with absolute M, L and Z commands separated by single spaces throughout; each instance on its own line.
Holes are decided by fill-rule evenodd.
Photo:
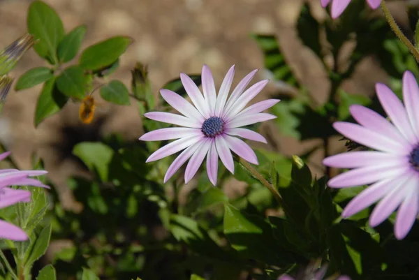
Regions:
M 419 135 L 419 87 L 410 71 L 403 75 L 403 100 L 413 131 Z

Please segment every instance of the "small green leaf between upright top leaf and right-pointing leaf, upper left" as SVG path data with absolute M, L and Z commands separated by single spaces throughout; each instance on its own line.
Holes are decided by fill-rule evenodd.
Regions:
M 84 34 L 86 34 L 85 25 L 75 27 L 75 29 L 66 34 L 58 45 L 57 54 L 59 61 L 68 62 L 75 57 L 82 46 Z

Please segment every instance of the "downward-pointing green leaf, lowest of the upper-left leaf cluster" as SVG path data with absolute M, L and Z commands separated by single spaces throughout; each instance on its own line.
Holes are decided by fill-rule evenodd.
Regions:
M 45 82 L 35 110 L 35 127 L 50 115 L 59 112 L 67 102 L 67 97 L 61 94 L 55 87 L 55 78 Z

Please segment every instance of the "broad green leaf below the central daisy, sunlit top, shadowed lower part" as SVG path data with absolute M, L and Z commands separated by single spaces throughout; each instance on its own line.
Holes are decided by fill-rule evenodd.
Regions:
M 269 223 L 258 216 L 241 212 L 225 205 L 224 234 L 231 246 L 244 258 L 253 258 L 267 264 L 284 264 L 279 255 L 281 248 L 272 235 Z

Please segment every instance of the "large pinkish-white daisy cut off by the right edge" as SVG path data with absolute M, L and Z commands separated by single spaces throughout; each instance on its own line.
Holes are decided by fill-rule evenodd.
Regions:
M 395 236 L 401 240 L 416 221 L 419 207 L 419 87 L 409 71 L 403 76 L 403 103 L 385 86 L 376 84 L 378 99 L 388 121 L 360 105 L 352 105 L 358 124 L 336 122 L 334 127 L 346 138 L 376 151 L 347 152 L 324 159 L 336 168 L 355 168 L 330 179 L 332 188 L 370 186 L 345 207 L 351 216 L 377 203 L 369 217 L 370 226 L 385 221 L 397 208 Z

